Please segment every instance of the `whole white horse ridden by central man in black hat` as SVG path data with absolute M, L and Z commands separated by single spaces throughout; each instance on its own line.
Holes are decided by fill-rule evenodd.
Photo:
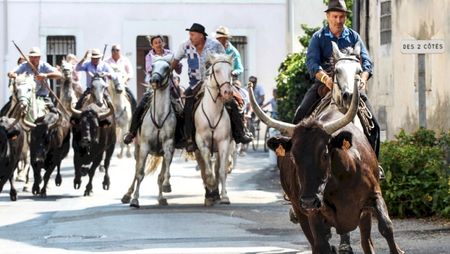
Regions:
M 231 71 L 232 57 L 222 54 L 211 55 L 209 76 L 204 82 L 204 96 L 195 110 L 196 152 L 203 183 L 205 185 L 205 206 L 212 206 L 220 199 L 222 204 L 230 204 L 226 179 L 230 155 L 234 149 L 231 135 L 230 117 L 224 102 L 232 98 Z M 218 196 L 219 181 L 221 185 Z

